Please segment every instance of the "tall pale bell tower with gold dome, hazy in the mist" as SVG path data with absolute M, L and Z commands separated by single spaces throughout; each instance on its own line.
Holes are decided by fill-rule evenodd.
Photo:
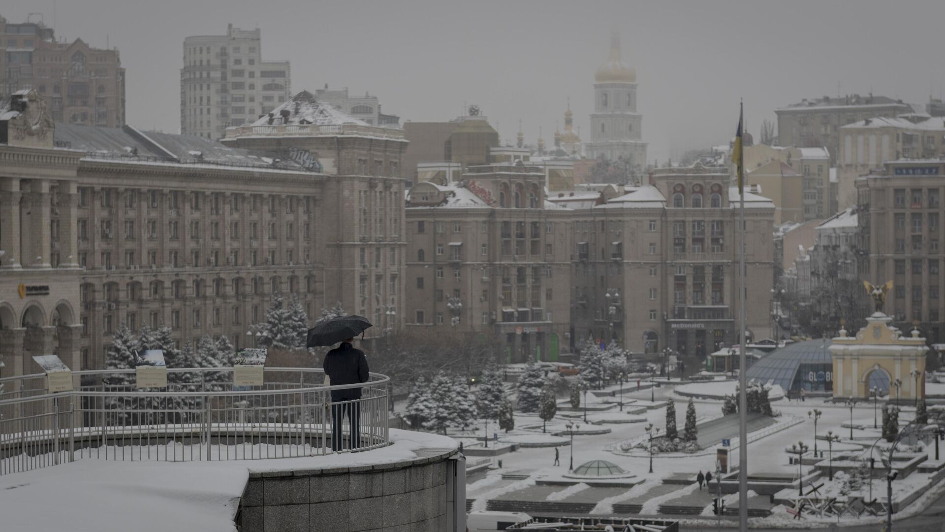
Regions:
M 591 140 L 585 144 L 589 158 L 603 155 L 615 161 L 629 161 L 634 173 L 646 168 L 643 115 L 637 113 L 637 73 L 621 59 L 620 33 L 610 35 L 607 62 L 594 73 L 594 106 Z

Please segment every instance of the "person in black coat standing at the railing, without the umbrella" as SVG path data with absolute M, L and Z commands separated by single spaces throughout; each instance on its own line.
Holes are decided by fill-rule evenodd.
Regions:
M 349 338 L 325 355 L 322 368 L 332 385 L 367 382 L 369 379 L 368 357 L 364 351 L 352 346 Z M 342 426 L 345 417 L 351 426 L 351 449 L 361 447 L 361 388 L 332 390 L 332 451 L 342 449 Z

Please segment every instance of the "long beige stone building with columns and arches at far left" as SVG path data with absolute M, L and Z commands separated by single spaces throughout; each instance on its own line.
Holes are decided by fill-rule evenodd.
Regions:
M 400 328 L 398 130 L 304 123 L 322 104 L 303 92 L 279 124 L 225 144 L 129 126 L 53 133 L 43 100 L 18 98 L 0 113 L 0 375 L 51 352 L 101 367 L 122 322 L 248 346 L 275 293 L 298 294 L 310 316 L 340 301 L 378 325 L 368 339 Z

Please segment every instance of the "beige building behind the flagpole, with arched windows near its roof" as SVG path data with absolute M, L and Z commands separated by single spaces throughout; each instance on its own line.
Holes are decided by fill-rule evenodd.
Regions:
M 725 168 L 662 168 L 653 184 L 577 199 L 573 337 L 704 356 L 737 336 L 737 188 Z M 579 208 L 579 207 L 583 208 Z M 746 192 L 747 328 L 770 335 L 775 206 Z

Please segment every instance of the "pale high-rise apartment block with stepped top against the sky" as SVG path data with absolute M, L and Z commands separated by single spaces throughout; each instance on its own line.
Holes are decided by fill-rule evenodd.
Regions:
M 264 61 L 260 30 L 183 41 L 180 133 L 220 139 L 224 129 L 256 121 L 290 96 L 287 61 Z

